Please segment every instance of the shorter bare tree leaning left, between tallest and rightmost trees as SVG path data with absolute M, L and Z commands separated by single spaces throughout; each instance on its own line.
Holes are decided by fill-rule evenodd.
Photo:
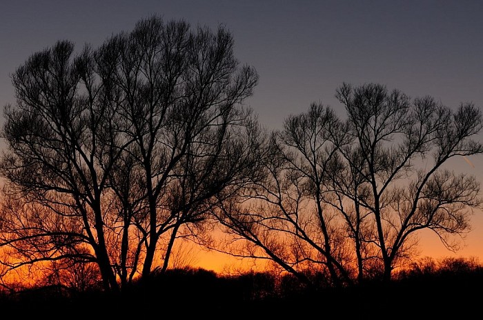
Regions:
M 343 143 L 345 131 L 331 108 L 313 103 L 273 132 L 264 154 L 265 179 L 254 183 L 248 200 L 217 211 L 228 233 L 244 243 L 232 246 L 232 254 L 275 261 L 309 286 L 321 273 L 331 285 L 351 283 L 344 225 L 324 203 L 337 162 L 335 141 Z

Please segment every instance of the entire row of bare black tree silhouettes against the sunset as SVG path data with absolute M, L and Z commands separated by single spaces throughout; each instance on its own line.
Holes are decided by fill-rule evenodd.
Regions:
M 57 41 L 12 73 L 3 288 L 20 274 L 119 296 L 177 269 L 186 242 L 348 288 L 390 283 L 422 230 L 460 248 L 483 201 L 452 161 L 483 153 L 480 108 L 342 83 L 340 110 L 312 103 L 266 130 L 246 105 L 259 74 L 234 48 L 224 26 L 150 17 L 98 48 Z

